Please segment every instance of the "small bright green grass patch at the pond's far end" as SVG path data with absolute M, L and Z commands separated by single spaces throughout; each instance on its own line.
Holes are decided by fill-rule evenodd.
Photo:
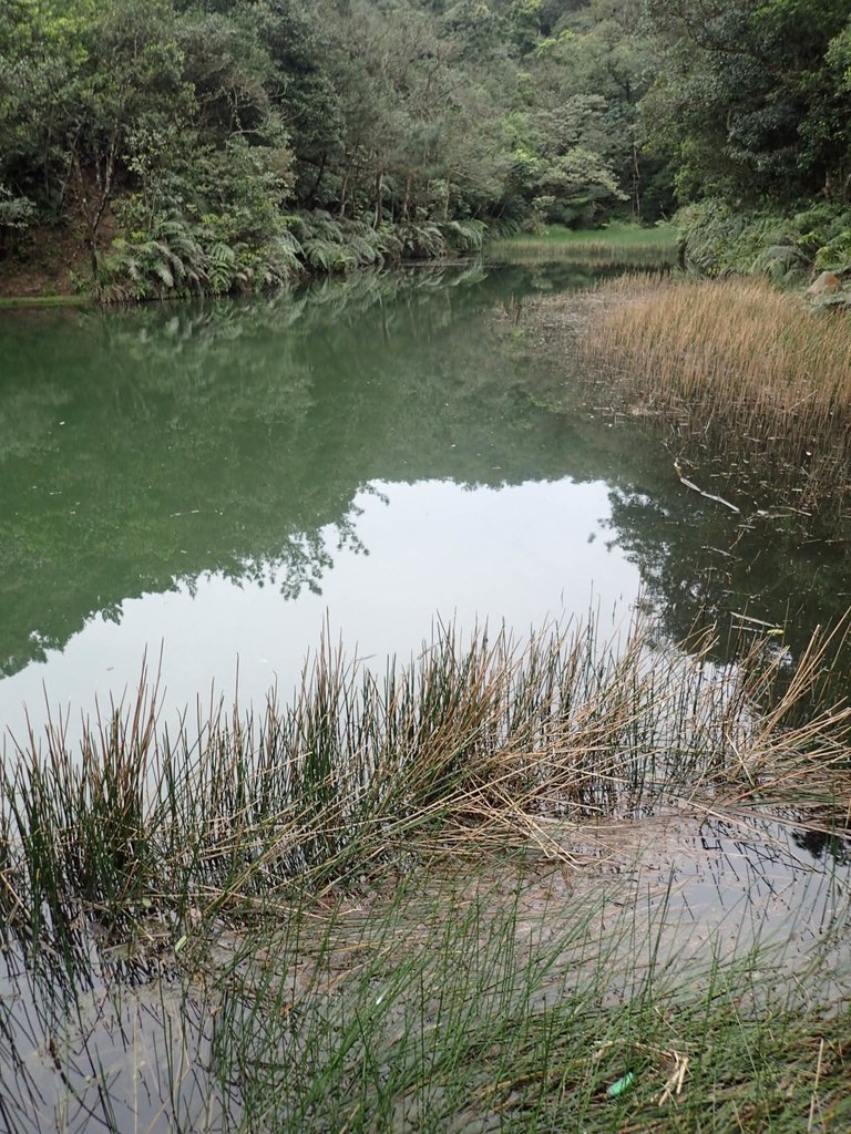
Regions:
M 612 223 L 589 232 L 554 225 L 540 234 L 491 240 L 486 254 L 500 263 L 557 261 L 598 268 L 671 266 L 676 262 L 676 230 L 665 225 L 640 228 Z

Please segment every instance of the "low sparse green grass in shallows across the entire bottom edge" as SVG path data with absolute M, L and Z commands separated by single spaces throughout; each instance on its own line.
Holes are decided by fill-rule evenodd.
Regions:
M 530 865 L 305 897 L 227 951 L 199 930 L 170 983 L 19 966 L 5 1128 L 848 1128 L 848 1007 L 825 1010 L 814 974 L 784 984 L 766 947 L 671 967 L 664 895 L 646 916 L 614 879 L 531 914 Z

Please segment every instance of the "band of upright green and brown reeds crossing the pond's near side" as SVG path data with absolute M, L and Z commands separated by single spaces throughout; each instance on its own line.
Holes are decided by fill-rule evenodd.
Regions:
M 718 667 L 710 633 L 673 650 L 635 626 L 522 649 L 443 633 L 382 679 L 326 646 L 290 705 L 256 719 L 220 708 L 171 734 L 143 679 L 79 750 L 57 723 L 7 753 L 2 921 L 33 941 L 91 916 L 120 933 L 160 916 L 177 932 L 364 880 L 418 848 L 531 843 L 570 858 L 565 821 L 671 794 L 741 803 L 770 786 L 835 804 L 851 711 L 801 723 L 799 710 L 843 633 L 817 635 L 794 671 L 775 640 Z

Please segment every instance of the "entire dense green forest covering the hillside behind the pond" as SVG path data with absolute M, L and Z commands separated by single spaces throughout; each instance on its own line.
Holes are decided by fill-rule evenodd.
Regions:
M 0 276 L 224 294 L 674 213 L 708 271 L 851 262 L 849 0 L 0 11 Z

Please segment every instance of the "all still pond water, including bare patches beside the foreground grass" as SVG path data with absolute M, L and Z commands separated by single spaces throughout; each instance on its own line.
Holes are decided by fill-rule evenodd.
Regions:
M 323 627 L 384 668 L 437 620 L 523 636 L 591 610 L 605 629 L 640 596 L 672 638 L 701 608 L 722 624 L 789 617 L 794 654 L 849 604 L 841 544 L 799 547 L 734 517 L 685 489 L 639 424 L 565 411 L 572 361 L 536 349 L 514 314 L 587 281 L 428 270 L 245 304 L 1 312 L 6 743 L 24 705 L 40 730 L 45 703 L 76 720 L 119 699 L 145 652 L 162 655 L 163 712 L 213 686 L 233 695 L 237 667 L 243 706 L 272 685 L 284 699 Z M 593 836 L 604 874 L 589 868 L 589 887 L 612 890 L 612 861 L 625 895 L 592 925 L 592 964 L 596 942 L 623 940 L 630 965 L 615 972 L 640 975 L 637 924 L 652 930 L 654 964 L 669 950 L 690 971 L 776 937 L 770 987 L 803 989 L 818 963 L 842 1002 L 844 841 L 654 822 L 667 826 L 638 824 L 640 846 L 613 844 L 616 824 Z M 524 926 L 558 925 L 573 900 L 574 879 L 547 871 L 506 882 Z M 100 1108 L 126 1128 L 224 1128 L 210 1109 L 218 1004 L 101 964 L 69 1012 L 23 957 L 0 955 L 10 1128 Z M 575 957 L 554 980 L 565 972 L 581 972 Z

